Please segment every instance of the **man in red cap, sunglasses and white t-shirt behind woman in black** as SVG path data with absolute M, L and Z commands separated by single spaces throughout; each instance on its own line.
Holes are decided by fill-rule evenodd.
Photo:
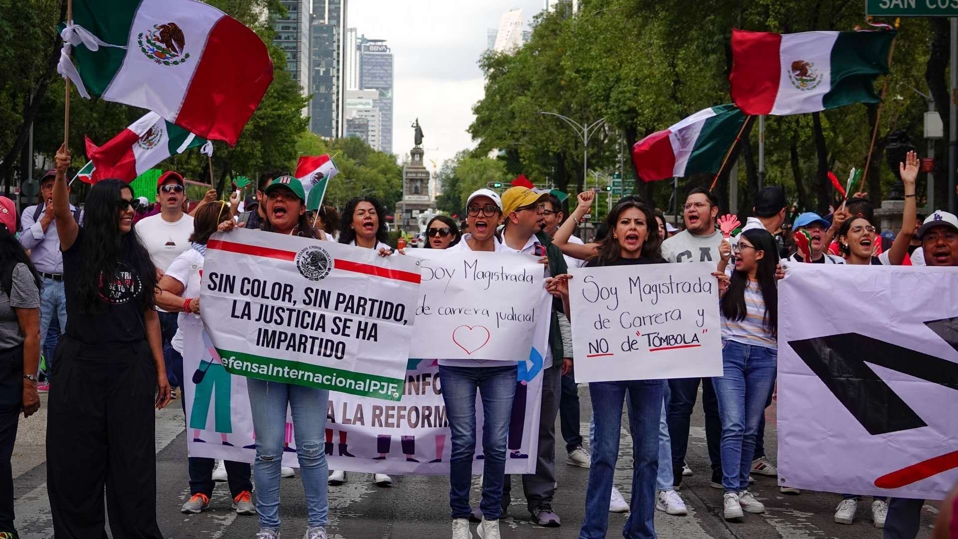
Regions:
M 183 213 L 184 200 L 186 185 L 183 176 L 173 171 L 163 173 L 156 180 L 156 201 L 160 204 L 160 213 L 141 219 L 133 227 L 157 269 L 166 271 L 173 259 L 190 248 L 193 217 Z M 178 313 L 167 313 L 159 308 L 156 310 L 159 311 L 163 330 L 163 359 L 167 363 L 167 378 L 171 387 L 178 387 L 182 381 L 177 373 L 183 371 L 183 358 L 175 354 L 171 346 L 171 340 L 176 335 Z

